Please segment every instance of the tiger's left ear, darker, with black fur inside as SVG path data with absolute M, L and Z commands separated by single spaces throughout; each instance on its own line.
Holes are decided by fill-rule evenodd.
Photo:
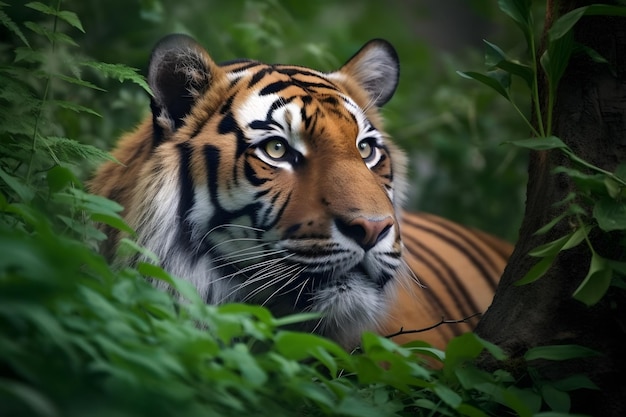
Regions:
M 169 35 L 157 43 L 148 69 L 156 139 L 163 139 L 183 124 L 196 100 L 211 85 L 215 68 L 204 48 L 187 35 Z

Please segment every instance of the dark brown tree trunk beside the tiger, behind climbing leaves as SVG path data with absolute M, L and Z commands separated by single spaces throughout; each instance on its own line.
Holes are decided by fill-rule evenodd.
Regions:
M 548 2 L 546 28 L 552 16 L 592 3 Z M 574 36 L 576 42 L 593 48 L 610 65 L 592 62 L 587 56 L 572 57 L 557 93 L 554 135 L 583 159 L 614 171 L 620 162 L 626 161 L 626 19 L 584 17 L 575 26 Z M 545 99 L 545 85 L 543 91 Z M 599 357 L 530 365 L 539 368 L 546 378 L 584 373 L 600 387 L 600 391 L 573 393 L 573 412 L 626 416 L 624 291 L 612 287 L 593 307 L 572 298 L 587 273 L 587 245 L 561 252 L 548 273 L 534 283 L 514 285 L 538 260 L 527 255 L 529 250 L 571 231 L 571 225 L 562 221 L 549 233 L 534 235 L 565 209 L 553 204 L 575 190 L 569 177 L 551 173 L 559 165 L 567 166 L 568 160 L 558 150 L 533 152 L 530 156 L 526 212 L 519 241 L 476 333 L 504 348 L 512 356 L 512 364 L 519 363 L 515 358 L 529 348 L 542 345 L 578 344 L 601 352 Z M 606 234 L 590 239 L 601 255 L 611 259 L 625 257 L 623 246 Z M 482 364 L 495 365 L 489 359 Z

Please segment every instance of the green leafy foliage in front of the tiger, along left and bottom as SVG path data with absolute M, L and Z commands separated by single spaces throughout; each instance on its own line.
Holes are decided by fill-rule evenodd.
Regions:
M 521 387 L 505 370 L 479 370 L 472 362 L 483 352 L 504 356 L 472 334 L 445 352 L 364 334 L 349 354 L 288 330 L 305 316 L 208 306 L 155 264 L 109 265 L 93 222 L 132 231 L 121 207 L 80 180 L 108 158 L 77 134 L 98 120 L 86 103 L 102 94 L 82 69 L 100 80 L 145 81 L 83 56 L 71 34 L 89 26 L 62 5 L 27 3 L 36 14 L 26 21 L 0 3 L 0 24 L 18 44 L 0 49 L 0 414 L 558 416 L 569 391 L 593 388 L 584 378 Z M 268 33 L 280 29 L 270 23 Z M 128 239 L 125 250 L 143 249 Z M 167 282 L 172 294 L 146 277 Z M 532 363 L 589 352 L 528 355 Z

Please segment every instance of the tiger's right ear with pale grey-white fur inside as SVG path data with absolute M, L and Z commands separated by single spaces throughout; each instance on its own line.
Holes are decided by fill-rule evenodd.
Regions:
M 394 47 L 383 39 L 367 42 L 338 73 L 347 74 L 381 107 L 391 99 L 400 78 L 400 61 Z

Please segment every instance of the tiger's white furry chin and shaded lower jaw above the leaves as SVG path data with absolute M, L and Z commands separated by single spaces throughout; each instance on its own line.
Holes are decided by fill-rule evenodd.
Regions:
M 239 290 L 231 292 L 229 301 L 264 305 L 276 317 L 319 313 L 319 319 L 290 327 L 330 337 L 351 348 L 358 344 L 363 331 L 376 329 L 386 316 L 395 273 L 394 269 L 378 268 L 375 258 L 364 256 L 352 261 L 357 263 L 323 270 L 315 268 L 317 263 L 283 263 L 272 274 L 263 267 L 252 268 L 238 284 Z M 224 271 L 226 274 L 245 269 L 233 264 L 227 268 L 234 272 Z M 264 275 L 264 279 L 259 278 Z

